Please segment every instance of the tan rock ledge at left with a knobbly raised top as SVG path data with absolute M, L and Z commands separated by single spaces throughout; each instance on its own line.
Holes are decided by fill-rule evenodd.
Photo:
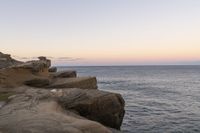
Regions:
M 36 60 L 0 69 L 0 86 L 16 87 L 24 85 L 26 81 L 49 78 L 48 63 Z

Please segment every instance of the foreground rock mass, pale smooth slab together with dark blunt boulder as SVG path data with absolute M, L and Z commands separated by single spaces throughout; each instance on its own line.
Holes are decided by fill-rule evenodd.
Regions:
M 22 88 L 23 93 L 10 95 L 9 104 L 0 109 L 3 133 L 112 133 L 115 130 L 103 125 L 119 128 L 122 118 L 118 119 L 124 115 L 123 99 L 115 93 L 82 89 L 50 91 L 26 86 L 19 89 Z

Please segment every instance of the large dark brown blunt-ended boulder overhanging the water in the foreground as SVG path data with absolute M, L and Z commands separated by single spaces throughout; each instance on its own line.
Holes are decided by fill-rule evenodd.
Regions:
M 83 89 L 67 89 L 57 93 L 59 103 L 66 110 L 75 110 L 90 120 L 120 129 L 125 113 L 125 102 L 120 94 Z

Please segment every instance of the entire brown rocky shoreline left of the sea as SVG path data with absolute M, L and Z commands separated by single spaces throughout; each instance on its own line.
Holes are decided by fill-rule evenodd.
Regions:
M 21 62 L 0 53 L 0 133 L 118 133 L 125 102 L 96 77 L 57 72 L 46 57 Z

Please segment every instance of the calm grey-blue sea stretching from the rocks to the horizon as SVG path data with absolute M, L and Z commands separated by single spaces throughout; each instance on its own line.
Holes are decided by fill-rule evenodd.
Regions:
M 63 67 L 122 94 L 125 133 L 199 133 L 200 66 Z

